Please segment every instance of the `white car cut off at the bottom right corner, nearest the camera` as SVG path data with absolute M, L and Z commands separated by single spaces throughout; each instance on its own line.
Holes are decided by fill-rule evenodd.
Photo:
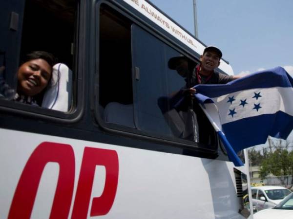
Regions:
M 255 213 L 253 219 L 293 219 L 293 193 L 275 207 Z

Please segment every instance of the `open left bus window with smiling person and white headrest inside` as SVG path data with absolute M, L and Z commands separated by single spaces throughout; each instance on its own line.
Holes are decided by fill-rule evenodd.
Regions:
M 68 112 L 76 100 L 78 1 L 2 0 L 0 5 L 0 107 L 62 117 L 56 111 Z

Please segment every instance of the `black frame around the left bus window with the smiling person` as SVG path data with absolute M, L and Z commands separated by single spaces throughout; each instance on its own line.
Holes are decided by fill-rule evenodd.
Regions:
M 85 40 L 81 39 L 84 35 L 83 28 L 85 17 L 81 15 L 82 8 L 86 4 L 84 1 L 76 0 L 76 11 L 74 18 L 74 54 L 73 54 L 73 84 L 72 84 L 72 106 L 68 112 L 58 110 L 45 109 L 42 107 L 31 106 L 19 102 L 0 99 L 0 111 L 12 113 L 19 116 L 29 117 L 33 119 L 42 119 L 55 123 L 70 124 L 76 123 L 82 118 L 84 108 L 84 51 Z M 25 5 L 24 5 L 25 7 Z M 24 15 L 25 16 L 25 15 Z M 22 24 L 22 21 L 21 21 Z M 82 25 L 81 25 L 82 24 Z M 21 27 L 22 29 L 22 27 Z M 22 30 L 21 30 L 22 31 Z M 21 33 L 22 34 L 22 33 Z M 17 57 L 19 60 L 19 57 Z M 10 75 L 9 77 L 13 77 Z

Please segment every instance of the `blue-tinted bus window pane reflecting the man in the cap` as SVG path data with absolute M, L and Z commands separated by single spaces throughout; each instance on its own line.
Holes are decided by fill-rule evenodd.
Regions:
M 131 31 L 138 128 L 214 149 L 215 131 L 195 99 L 184 92 L 196 63 L 136 25 Z

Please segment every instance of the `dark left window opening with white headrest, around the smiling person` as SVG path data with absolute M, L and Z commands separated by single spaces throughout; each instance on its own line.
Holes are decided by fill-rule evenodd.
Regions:
M 2 3 L 6 6 L 6 3 Z M 46 89 L 33 97 L 38 106 L 68 111 L 72 102 L 76 0 L 17 0 L 14 4 L 9 1 L 7 5 L 8 11 L 1 13 L 1 17 L 8 16 L 4 16 L 2 20 L 7 21 L 10 28 L 0 27 L 0 65 L 5 65 L 5 71 L 1 74 L 2 82 L 5 81 L 7 86 L 22 96 L 18 93 L 16 74 L 22 61 L 26 60 L 23 57 L 33 51 L 51 53 L 56 57 L 55 64 L 63 64 L 54 66 Z M 7 7 L 0 8 L 7 10 Z M 67 103 L 58 103 L 60 96 Z M 16 100 L 16 96 L 5 99 Z M 66 106 L 57 106 L 58 104 Z

